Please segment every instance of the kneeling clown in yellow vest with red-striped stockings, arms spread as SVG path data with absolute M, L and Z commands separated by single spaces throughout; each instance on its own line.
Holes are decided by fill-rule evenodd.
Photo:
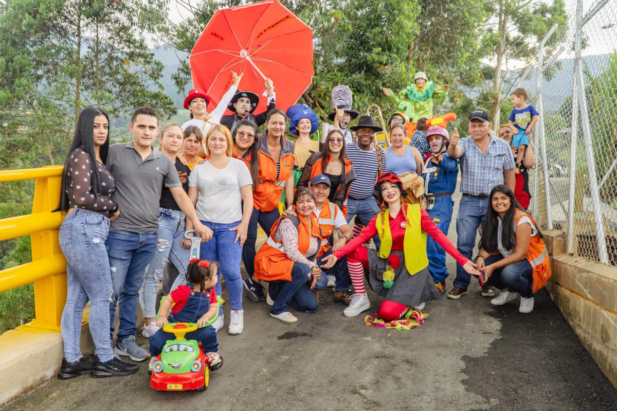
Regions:
M 431 217 L 418 204 L 404 204 L 402 181 L 392 172 L 379 176 L 375 196 L 381 212 L 346 246 L 323 259 L 321 267 L 331 268 L 338 259 L 347 257 L 347 268 L 355 294 L 343 314 L 354 317 L 370 309 L 364 288 L 365 270 L 368 283 L 384 297 L 378 316 L 384 322 L 404 317 L 408 310 L 424 309 L 424 303 L 439 297 L 428 271 L 426 233 L 441 244 L 466 272 L 479 275 L 477 266 L 461 255 L 449 239 L 439 231 Z M 362 244 L 378 235 L 379 251 Z

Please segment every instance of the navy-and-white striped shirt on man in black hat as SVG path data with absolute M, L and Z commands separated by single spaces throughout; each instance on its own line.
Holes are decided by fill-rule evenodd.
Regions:
M 381 151 L 381 172 L 387 171 L 386 152 Z M 347 146 L 347 158 L 354 165 L 355 180 L 352 181 L 349 189 L 349 197 L 356 200 L 363 200 L 371 197 L 375 191 L 375 181 L 377 180 L 378 162 L 375 147 L 371 146 L 371 151 L 364 151 L 358 147 L 357 143 Z

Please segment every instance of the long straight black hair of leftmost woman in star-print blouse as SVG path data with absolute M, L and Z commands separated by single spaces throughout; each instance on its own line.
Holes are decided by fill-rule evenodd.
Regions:
M 70 176 L 67 177 L 66 171 L 69 168 L 68 161 L 70 160 L 71 153 L 78 148 L 83 149 L 88 156 L 90 156 L 90 170 L 91 170 L 91 186 L 92 191 L 95 194 L 101 193 L 101 177 L 99 176 L 99 168 L 96 166 L 96 155 L 94 154 L 94 117 L 97 115 L 104 115 L 107 118 L 109 124 L 109 115 L 98 107 L 88 107 L 81 110 L 79 118 L 77 118 L 77 124 L 75 125 L 75 133 L 73 133 L 73 141 L 68 148 L 67 159 L 64 160 L 64 172 L 62 172 L 62 185 L 60 186 L 60 202 L 58 208 L 54 211 L 66 211 L 68 210 L 68 186 L 71 183 Z M 107 130 L 107 139 L 105 143 L 99 147 L 99 157 L 103 164 L 107 161 L 107 152 L 109 152 L 109 129 Z

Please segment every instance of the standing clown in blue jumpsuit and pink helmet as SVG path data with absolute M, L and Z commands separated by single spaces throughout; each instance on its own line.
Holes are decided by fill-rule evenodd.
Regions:
M 426 141 L 433 152 L 424 162 L 424 191 L 426 192 L 426 212 L 433 223 L 444 235 L 448 235 L 452 221 L 452 193 L 457 186 L 458 164 L 451 159 L 447 147 L 450 135 L 443 127 L 432 126 L 426 131 Z M 445 267 L 445 251 L 433 239 L 426 243 L 428 269 L 439 294 L 445 293 L 445 279 L 448 269 Z

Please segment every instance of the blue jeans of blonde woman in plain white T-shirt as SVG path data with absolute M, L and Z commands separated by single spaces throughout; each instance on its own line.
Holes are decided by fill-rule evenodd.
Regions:
M 218 262 L 218 281 L 214 287 L 217 296 L 222 293 L 221 276 L 225 278 L 225 287 L 230 296 L 232 310 L 242 310 L 242 275 L 240 274 L 240 258 L 242 256 L 242 246 L 240 240 L 234 244 L 237 231 L 230 231 L 240 222 L 230 224 L 218 224 L 202 221 L 202 224 L 212 230 L 210 241 L 201 243 L 199 257 Z M 179 276 L 178 276 L 179 277 Z M 218 314 L 223 313 L 223 307 Z

